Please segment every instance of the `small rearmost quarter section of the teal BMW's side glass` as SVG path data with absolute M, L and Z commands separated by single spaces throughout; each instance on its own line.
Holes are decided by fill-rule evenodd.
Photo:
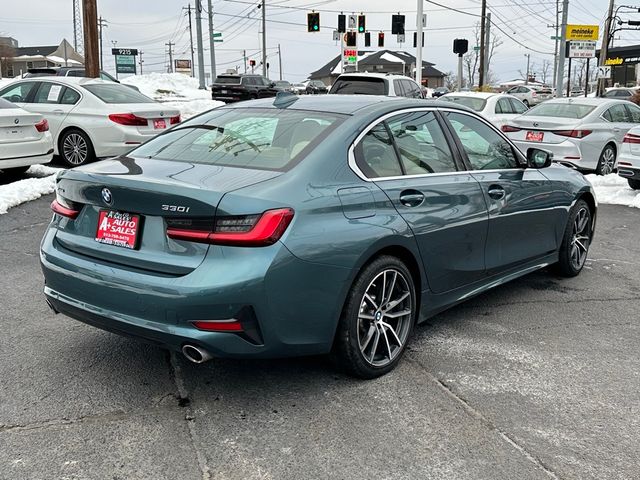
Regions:
M 402 169 L 384 123 L 373 127 L 356 145 L 356 164 L 369 178 L 395 177 Z

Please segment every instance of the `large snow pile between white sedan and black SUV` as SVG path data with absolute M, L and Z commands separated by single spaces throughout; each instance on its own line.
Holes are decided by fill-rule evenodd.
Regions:
M 147 73 L 122 79 L 148 97 L 180 110 L 183 120 L 224 105 L 211 100 L 209 90 L 200 90 L 198 80 L 182 73 Z

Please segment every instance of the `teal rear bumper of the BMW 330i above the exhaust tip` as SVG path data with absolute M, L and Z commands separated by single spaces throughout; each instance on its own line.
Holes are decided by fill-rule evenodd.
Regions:
M 73 319 L 175 351 L 192 344 L 214 357 L 274 358 L 331 349 L 348 269 L 304 262 L 280 243 L 251 255 L 241 247 L 212 249 L 217 253 L 193 272 L 167 277 L 66 250 L 50 228 L 40 254 L 45 297 Z M 191 323 L 233 318 L 245 333 Z

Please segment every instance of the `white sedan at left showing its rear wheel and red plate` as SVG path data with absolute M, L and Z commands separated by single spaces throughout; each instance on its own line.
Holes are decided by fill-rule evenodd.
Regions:
M 53 148 L 68 166 L 127 153 L 180 122 L 180 111 L 123 85 L 77 77 L 18 80 L 4 98 L 44 116 Z

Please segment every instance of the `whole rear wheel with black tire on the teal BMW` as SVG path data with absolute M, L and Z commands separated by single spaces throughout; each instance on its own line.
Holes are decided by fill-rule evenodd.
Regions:
M 396 257 L 376 258 L 360 272 L 347 296 L 331 352 L 334 364 L 365 379 L 390 372 L 411 338 L 416 312 L 409 269 Z

